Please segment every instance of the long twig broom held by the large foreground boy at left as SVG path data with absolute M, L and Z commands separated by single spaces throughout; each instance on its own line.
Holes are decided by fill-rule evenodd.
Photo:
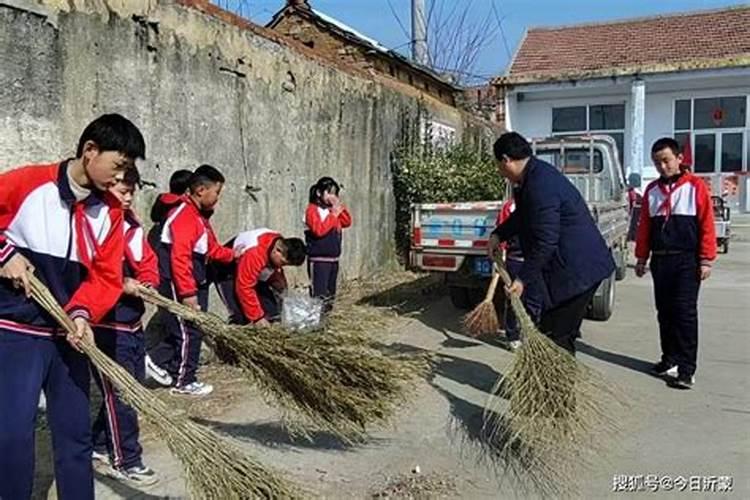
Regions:
M 31 277 L 36 300 L 68 333 L 75 325 L 52 293 Z M 296 498 L 299 490 L 286 480 L 251 460 L 228 439 L 175 413 L 157 396 L 140 385 L 121 366 L 101 352 L 90 340 L 81 345 L 94 366 L 112 381 L 120 396 L 140 416 L 149 420 L 169 449 L 182 462 L 193 498 Z

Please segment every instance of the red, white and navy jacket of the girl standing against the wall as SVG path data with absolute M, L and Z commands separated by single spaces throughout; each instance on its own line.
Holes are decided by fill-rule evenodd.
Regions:
M 337 216 L 328 207 L 310 203 L 305 211 L 305 243 L 310 261 L 337 261 L 341 256 L 342 230 L 352 225 L 344 208 Z

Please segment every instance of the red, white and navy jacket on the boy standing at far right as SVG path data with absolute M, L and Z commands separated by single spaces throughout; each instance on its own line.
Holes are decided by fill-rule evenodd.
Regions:
M 657 179 L 643 193 L 635 255 L 646 260 L 659 251 L 695 253 L 703 264 L 716 259 L 711 195 L 690 172 Z

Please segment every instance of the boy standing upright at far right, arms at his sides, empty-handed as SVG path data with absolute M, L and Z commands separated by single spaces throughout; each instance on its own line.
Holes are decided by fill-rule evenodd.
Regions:
M 661 177 L 643 194 L 636 274 L 645 274 L 650 257 L 662 350 L 652 371 L 689 389 L 698 357 L 698 291 L 716 259 L 713 205 L 703 180 L 681 167 L 674 139 L 656 141 L 651 156 Z

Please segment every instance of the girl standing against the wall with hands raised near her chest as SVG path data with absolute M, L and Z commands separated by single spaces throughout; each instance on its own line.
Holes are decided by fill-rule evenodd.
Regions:
M 307 272 L 312 296 L 322 298 L 327 309 L 336 298 L 342 230 L 352 225 L 339 191 L 338 183 L 331 177 L 319 179 L 310 187 L 310 204 L 305 212 Z

